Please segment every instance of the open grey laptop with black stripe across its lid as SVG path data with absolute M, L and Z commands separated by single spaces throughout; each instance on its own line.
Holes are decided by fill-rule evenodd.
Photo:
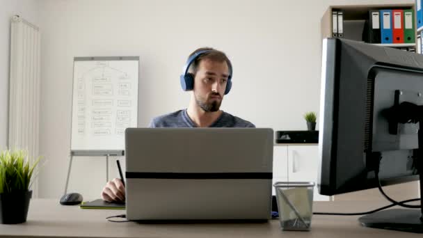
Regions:
M 273 130 L 128 128 L 129 220 L 271 219 Z

